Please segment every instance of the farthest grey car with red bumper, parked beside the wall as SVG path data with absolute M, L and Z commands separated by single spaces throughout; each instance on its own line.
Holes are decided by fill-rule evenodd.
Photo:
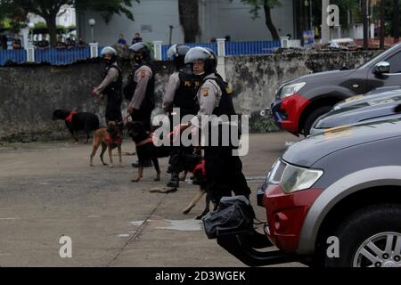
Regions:
M 292 134 L 309 134 L 316 118 L 335 104 L 374 88 L 401 82 L 401 43 L 358 69 L 315 73 L 286 82 L 271 106 L 274 122 Z

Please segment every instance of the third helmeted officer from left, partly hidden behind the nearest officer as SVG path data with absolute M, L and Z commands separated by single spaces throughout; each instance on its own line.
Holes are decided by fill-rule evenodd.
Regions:
M 190 47 L 187 45 L 172 45 L 168 49 L 168 58 L 173 61 L 176 72 L 174 72 L 168 80 L 166 93 L 163 96 L 162 109 L 164 113 L 170 115 L 170 124 L 183 123 L 182 119 L 195 116 L 198 113 L 199 105 L 196 94 L 201 85 L 202 75 L 192 73 L 191 66 L 185 65 L 185 54 L 188 53 Z M 179 117 L 176 111 L 179 112 Z M 177 188 L 179 186 L 179 173 L 184 170 L 182 167 L 184 155 L 192 154 L 192 147 L 175 146 L 171 150 L 169 159 L 169 172 L 171 172 L 171 180 L 168 187 Z

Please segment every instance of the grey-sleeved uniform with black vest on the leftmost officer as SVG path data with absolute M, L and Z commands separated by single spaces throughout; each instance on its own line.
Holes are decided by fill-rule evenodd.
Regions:
M 94 89 L 97 95 L 107 96 L 106 122 L 122 122 L 121 103 L 122 103 L 122 71 L 119 65 L 114 62 L 104 71 L 102 84 Z

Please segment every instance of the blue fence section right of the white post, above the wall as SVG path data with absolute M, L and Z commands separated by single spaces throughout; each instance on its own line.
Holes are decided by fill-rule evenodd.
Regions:
M 273 53 L 274 49 L 281 46 L 280 41 L 226 42 L 225 55 Z

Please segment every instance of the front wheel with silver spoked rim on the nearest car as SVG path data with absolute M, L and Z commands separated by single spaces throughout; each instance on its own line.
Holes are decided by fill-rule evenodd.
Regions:
M 399 204 L 375 205 L 348 216 L 333 234 L 340 256 L 328 248 L 325 266 L 401 267 L 400 216 Z

